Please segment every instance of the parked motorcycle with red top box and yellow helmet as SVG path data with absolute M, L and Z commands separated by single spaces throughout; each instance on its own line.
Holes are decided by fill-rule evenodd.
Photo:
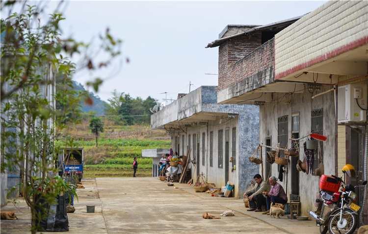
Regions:
M 357 200 L 355 187 L 365 186 L 367 181 L 363 182 L 363 185 L 355 187 L 351 184 L 345 184 L 346 174 L 348 176 L 355 174 L 354 167 L 351 167 L 352 169 L 349 171 L 343 168 L 343 174 L 340 178 L 333 175 L 322 175 L 320 178 L 321 199 L 316 199 L 318 208 L 315 212 L 310 211 L 309 214 L 316 220 L 321 234 L 326 234 L 327 231 L 330 234 L 352 234 L 358 226 L 360 207 L 353 203 Z M 340 187 L 341 191 L 339 191 Z

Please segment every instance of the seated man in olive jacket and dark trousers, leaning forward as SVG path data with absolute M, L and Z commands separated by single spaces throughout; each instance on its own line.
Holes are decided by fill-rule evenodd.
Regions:
M 257 183 L 256 186 L 244 193 L 244 198 L 248 196 L 249 199 L 250 209 L 247 209 L 247 211 L 261 212 L 262 205 L 266 205 L 266 195 L 263 192 L 269 192 L 270 189 L 268 184 L 262 180 L 260 174 L 255 175 L 253 178 Z

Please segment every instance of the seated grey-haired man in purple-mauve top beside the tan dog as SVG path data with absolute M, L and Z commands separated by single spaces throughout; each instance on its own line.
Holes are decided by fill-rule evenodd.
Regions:
M 271 208 L 271 204 L 275 205 L 276 203 L 285 204 L 288 202 L 288 196 L 286 196 L 283 186 L 277 182 L 276 177 L 271 176 L 268 180 L 271 184 L 271 190 L 269 192 L 263 192 L 266 195 L 266 203 L 267 203 L 267 211 L 263 214 L 267 214 L 269 209 Z

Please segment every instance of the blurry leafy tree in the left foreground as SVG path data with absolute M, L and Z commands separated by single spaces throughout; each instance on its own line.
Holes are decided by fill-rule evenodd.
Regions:
M 39 7 L 26 3 L 0 2 L 0 7 L 8 7 L 9 12 L 16 4 L 22 4 L 25 9 L 1 19 L 1 173 L 19 173 L 22 177 L 22 194 L 32 215 L 31 232 L 36 233 L 40 229 L 36 221 L 47 218 L 36 211 L 43 205 L 39 196 L 51 203 L 59 192 L 73 189 L 60 177 L 54 177 L 57 169 L 53 162 L 59 152 L 54 142 L 58 140 L 58 131 L 78 123 L 79 108 L 75 108 L 78 99 L 89 102 L 85 94 L 74 95 L 74 90 L 67 88 L 77 70 L 68 56 L 81 54 L 79 71 L 93 71 L 119 54 L 117 48 L 121 41 L 114 40 L 106 30 L 105 36 L 101 36 L 101 48 L 109 56 L 105 62 L 95 65 L 93 58 L 98 56 L 89 52 L 89 44 L 61 38 L 59 22 L 64 19 L 61 13 L 50 14 L 47 22 L 41 24 L 44 4 L 40 2 Z M 56 74 L 60 75 L 63 88 L 53 92 Z M 102 80 L 96 78 L 88 84 L 97 91 Z M 73 144 L 73 138 L 68 139 L 65 145 Z

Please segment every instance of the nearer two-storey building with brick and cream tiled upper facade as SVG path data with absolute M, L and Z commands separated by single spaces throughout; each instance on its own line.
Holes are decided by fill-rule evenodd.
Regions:
M 266 29 L 275 28 L 279 31 L 273 31 L 272 38 L 261 39 Z M 255 37 L 258 47 L 249 52 L 248 48 L 256 47 Z M 208 45 L 216 46 L 218 103 L 260 106 L 260 143 L 289 147 L 289 138 L 310 132 L 328 137 L 321 142 L 321 151 L 315 152 L 308 175 L 296 170 L 297 160 L 305 157 L 306 138 L 300 140 L 299 156 L 289 157 L 288 173 L 280 182 L 288 196 L 300 195 L 301 215 L 315 209 L 318 159 L 324 164 L 324 174 L 341 174 L 342 166 L 351 163 L 360 171 L 358 180 L 366 180 L 367 1 L 329 1 L 302 17 L 239 29 Z M 345 86 L 349 83 L 358 86 Z M 361 90 L 362 97 L 348 100 L 347 92 L 354 88 Z M 355 109 L 350 111 L 350 106 Z M 347 112 L 355 117 L 348 118 Z M 266 163 L 264 170 L 278 177 L 280 166 Z M 360 205 L 363 197 L 360 192 Z

